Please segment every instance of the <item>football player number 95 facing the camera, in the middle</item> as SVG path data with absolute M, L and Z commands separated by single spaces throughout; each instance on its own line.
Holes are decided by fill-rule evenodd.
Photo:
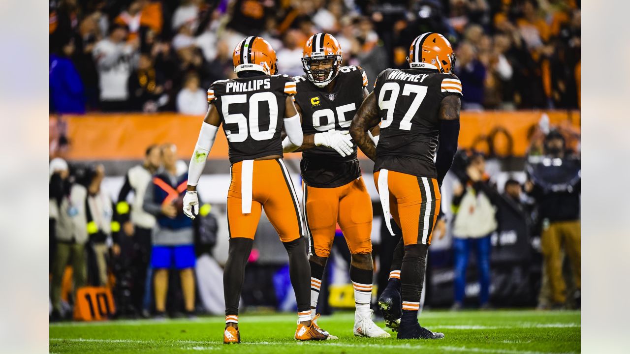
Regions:
M 348 128 L 367 96 L 367 76 L 358 66 L 341 66 L 336 38 L 312 35 L 302 51 L 303 76 L 295 77 L 295 107 L 302 117 L 304 141 L 300 169 L 302 202 L 310 236 L 311 311 L 315 315 L 326 261 L 339 223 L 352 255 L 350 280 L 355 295 L 355 336 L 389 337 L 372 321 L 372 200 L 365 189 L 357 146 Z M 372 128 L 372 127 L 370 127 Z M 285 139 L 285 151 L 295 149 Z

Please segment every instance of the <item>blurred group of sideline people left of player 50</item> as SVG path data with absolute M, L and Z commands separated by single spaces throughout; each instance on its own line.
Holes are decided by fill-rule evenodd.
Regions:
M 103 188 L 102 164 L 50 161 L 52 321 L 84 319 L 76 308 L 85 287 L 113 290 L 115 310 L 101 316 L 222 311 L 222 270 L 211 257 L 217 217 L 207 203 L 195 220 L 183 215 L 188 168 L 176 154 L 173 144 L 147 147 L 117 200 Z

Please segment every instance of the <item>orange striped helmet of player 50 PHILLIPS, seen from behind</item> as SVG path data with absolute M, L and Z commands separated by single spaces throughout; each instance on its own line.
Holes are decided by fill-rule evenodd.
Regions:
M 278 71 L 278 59 L 272 45 L 262 37 L 247 37 L 234 48 L 232 54 L 234 72 L 261 71 L 274 75 Z

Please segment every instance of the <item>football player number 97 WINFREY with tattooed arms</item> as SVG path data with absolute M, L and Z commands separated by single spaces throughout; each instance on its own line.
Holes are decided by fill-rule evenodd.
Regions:
M 418 324 L 418 308 L 440 210 L 439 185 L 457 151 L 462 84 L 452 74 L 455 55 L 450 43 L 438 33 L 416 37 L 407 60 L 410 69 L 379 74 L 350 134 L 375 161 L 374 182 L 389 232 L 393 234 L 390 212 L 403 231 L 404 246 L 394 252 L 390 279 L 379 299 L 386 324 L 398 330 L 398 339 L 439 339 L 444 334 Z M 375 146 L 367 131 L 379 121 L 381 135 Z

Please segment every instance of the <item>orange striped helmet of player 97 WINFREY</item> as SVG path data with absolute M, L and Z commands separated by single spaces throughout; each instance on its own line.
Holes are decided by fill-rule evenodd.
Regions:
M 455 67 L 455 54 L 449 40 L 443 35 L 427 32 L 413 40 L 407 61 L 412 69 L 452 72 Z

